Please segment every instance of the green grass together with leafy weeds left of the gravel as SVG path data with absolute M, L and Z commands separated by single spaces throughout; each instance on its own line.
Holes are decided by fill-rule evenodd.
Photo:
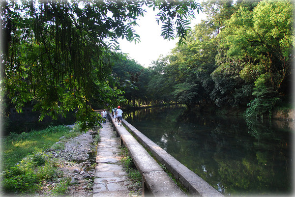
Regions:
M 5 137 L 2 154 L 3 171 L 0 173 L 2 191 L 5 194 L 33 194 L 45 181 L 60 177 L 62 172 L 57 170 L 55 159 L 44 151 L 55 148 L 57 146 L 55 143 L 62 136 L 64 141 L 79 135 L 81 135 L 79 128 L 70 131 L 66 126 L 50 126 L 40 131 L 11 133 Z M 53 194 L 64 195 L 69 183 L 69 179 L 61 181 L 52 191 Z

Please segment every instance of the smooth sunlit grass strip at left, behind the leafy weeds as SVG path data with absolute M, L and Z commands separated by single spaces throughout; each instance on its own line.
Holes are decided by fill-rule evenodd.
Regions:
M 29 133 L 11 133 L 3 138 L 1 166 L 3 169 L 11 168 L 28 155 L 50 148 L 62 136 L 66 139 L 80 134 L 81 132 L 78 131 L 70 132 L 70 128 L 66 126 L 50 126 L 44 130 Z

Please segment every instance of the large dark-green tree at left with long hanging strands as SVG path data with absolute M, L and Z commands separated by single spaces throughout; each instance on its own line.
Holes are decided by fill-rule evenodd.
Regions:
M 179 43 L 201 9 L 193 0 L 1 1 L 1 86 L 17 111 L 31 103 L 42 120 L 75 110 L 83 128 L 97 125 L 89 101 L 118 102 L 109 59 L 118 38 L 139 41 L 143 5 L 159 9 L 162 35 Z

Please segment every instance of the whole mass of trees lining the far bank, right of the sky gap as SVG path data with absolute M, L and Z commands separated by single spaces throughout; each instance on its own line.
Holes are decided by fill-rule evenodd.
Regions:
M 138 100 L 200 110 L 234 107 L 254 117 L 291 102 L 294 2 L 208 0 L 202 6 L 207 20 L 189 33 L 186 45 L 146 69 L 150 81 Z

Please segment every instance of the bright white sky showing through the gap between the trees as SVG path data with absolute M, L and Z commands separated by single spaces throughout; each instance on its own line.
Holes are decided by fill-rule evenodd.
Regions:
M 140 43 L 135 44 L 134 41 L 130 43 L 125 39 L 118 40 L 121 51 L 146 68 L 160 55 L 168 55 L 178 42 L 178 38 L 170 41 L 164 40 L 161 36 L 162 25 L 156 22 L 156 14 L 157 10 L 148 9 L 148 13 L 137 22 L 139 26 L 134 27 L 136 33 L 140 35 Z M 206 16 L 202 12 L 198 14 L 195 11 L 195 17 L 196 19 L 191 21 L 192 28 Z

